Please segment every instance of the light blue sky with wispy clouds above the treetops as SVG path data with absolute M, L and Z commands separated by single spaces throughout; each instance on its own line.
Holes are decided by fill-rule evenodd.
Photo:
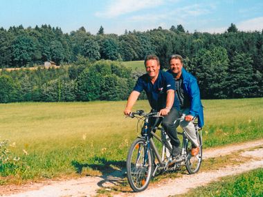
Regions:
M 183 25 L 194 32 L 263 29 L 262 0 L 0 0 L 0 27 L 50 24 L 63 32 L 84 26 L 92 34 L 169 29 Z

